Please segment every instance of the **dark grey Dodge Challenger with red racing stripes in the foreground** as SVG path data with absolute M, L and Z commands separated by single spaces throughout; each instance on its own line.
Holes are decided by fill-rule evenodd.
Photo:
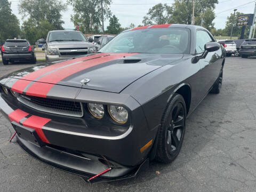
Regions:
M 219 93 L 225 49 L 205 28 L 129 29 L 100 52 L 0 79 L 13 142 L 90 182 L 134 177 L 179 154 L 186 118 Z

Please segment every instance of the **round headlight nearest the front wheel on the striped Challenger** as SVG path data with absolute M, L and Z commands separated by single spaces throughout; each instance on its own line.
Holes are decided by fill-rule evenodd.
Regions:
M 128 111 L 122 106 L 108 106 L 108 113 L 117 123 L 125 124 L 128 120 Z

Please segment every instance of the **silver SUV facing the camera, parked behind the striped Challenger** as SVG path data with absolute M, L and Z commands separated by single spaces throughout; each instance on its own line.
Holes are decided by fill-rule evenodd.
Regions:
M 81 31 L 75 30 L 49 31 L 46 40 L 39 39 L 38 42 L 45 44 L 47 62 L 75 58 L 96 51 L 95 45 L 88 42 Z

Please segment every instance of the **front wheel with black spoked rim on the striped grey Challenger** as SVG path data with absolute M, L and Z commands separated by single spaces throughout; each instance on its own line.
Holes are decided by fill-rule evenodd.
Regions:
M 170 163 L 180 153 L 186 130 L 187 110 L 183 97 L 174 94 L 168 103 L 158 132 L 156 159 Z

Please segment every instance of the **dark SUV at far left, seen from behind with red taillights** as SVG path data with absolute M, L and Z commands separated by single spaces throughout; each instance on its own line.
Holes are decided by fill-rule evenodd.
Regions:
M 36 63 L 34 46 L 26 39 L 7 39 L 1 46 L 1 55 L 4 65 L 14 61 Z

